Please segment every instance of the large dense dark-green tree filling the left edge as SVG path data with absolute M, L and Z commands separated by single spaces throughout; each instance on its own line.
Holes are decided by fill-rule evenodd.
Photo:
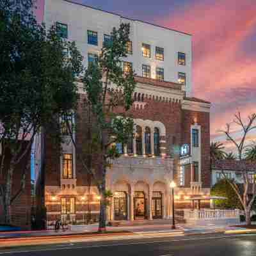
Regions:
M 11 205 L 23 192 L 26 179 L 24 172 L 20 189 L 13 195 L 13 173 L 22 161 L 28 162 L 35 134 L 42 127 L 56 125 L 58 115 L 74 108 L 74 82 L 82 69 L 76 45 L 62 40 L 55 26 L 47 31 L 37 24 L 32 9 L 32 0 L 0 2 L 0 202 L 4 223 L 11 223 Z M 56 139 L 60 138 L 58 131 L 52 134 Z

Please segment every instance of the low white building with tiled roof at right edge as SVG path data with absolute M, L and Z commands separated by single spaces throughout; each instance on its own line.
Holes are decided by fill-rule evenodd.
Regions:
M 235 180 L 237 184 L 243 184 L 244 179 L 242 175 L 242 170 L 244 166 L 244 161 L 238 160 L 217 160 L 212 163 L 212 186 L 218 182 L 220 179 Z M 248 179 L 250 184 L 256 183 L 256 163 L 247 161 L 246 170 L 248 172 Z M 224 174 L 223 174 L 224 173 Z

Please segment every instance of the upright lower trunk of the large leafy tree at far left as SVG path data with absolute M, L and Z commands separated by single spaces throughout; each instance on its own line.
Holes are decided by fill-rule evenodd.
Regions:
M 4 195 L 4 223 L 11 224 L 11 197 L 12 197 L 12 179 L 13 179 L 14 164 L 10 163 L 10 168 L 7 173 L 6 189 Z

